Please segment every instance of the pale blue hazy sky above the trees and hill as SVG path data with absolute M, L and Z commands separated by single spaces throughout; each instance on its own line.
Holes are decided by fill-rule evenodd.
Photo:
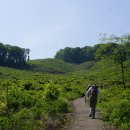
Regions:
M 0 42 L 29 48 L 32 60 L 53 58 L 103 33 L 130 33 L 129 12 L 130 0 L 0 0 Z

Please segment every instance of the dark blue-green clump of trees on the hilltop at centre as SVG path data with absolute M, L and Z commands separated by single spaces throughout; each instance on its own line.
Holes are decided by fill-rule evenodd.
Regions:
M 83 48 L 66 47 L 64 49 L 60 49 L 56 53 L 55 58 L 69 63 L 81 64 L 83 62 L 95 60 L 95 51 L 95 46 L 86 46 Z

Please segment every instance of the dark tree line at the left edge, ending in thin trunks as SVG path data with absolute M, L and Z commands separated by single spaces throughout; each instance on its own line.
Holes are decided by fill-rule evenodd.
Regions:
M 21 67 L 29 60 L 30 49 L 0 43 L 0 65 Z

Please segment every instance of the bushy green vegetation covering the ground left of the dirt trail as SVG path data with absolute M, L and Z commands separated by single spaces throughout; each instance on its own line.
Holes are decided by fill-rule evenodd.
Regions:
M 74 75 L 54 75 L 0 67 L 0 129 L 47 129 L 71 112 L 69 100 L 84 94 Z M 78 84 L 77 84 L 78 83 Z

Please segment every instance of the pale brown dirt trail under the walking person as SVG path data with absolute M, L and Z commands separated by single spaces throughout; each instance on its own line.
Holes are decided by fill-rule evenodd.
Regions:
M 89 117 L 89 106 L 85 106 L 84 99 L 79 98 L 73 101 L 74 113 L 70 120 L 60 130 L 116 130 L 107 125 L 99 118 L 96 111 L 96 119 Z

